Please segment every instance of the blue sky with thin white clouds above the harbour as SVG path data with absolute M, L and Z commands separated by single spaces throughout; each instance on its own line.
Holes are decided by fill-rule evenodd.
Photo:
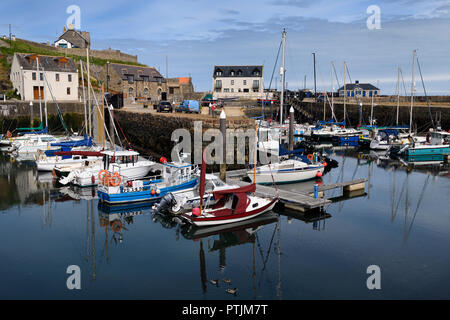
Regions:
M 262 64 L 265 87 L 273 74 L 270 87 L 279 89 L 281 57 L 274 65 L 285 28 L 288 89 L 303 88 L 305 76 L 314 87 L 315 52 L 318 90 L 329 91 L 332 76 L 342 86 L 345 61 L 347 83 L 370 82 L 382 94 L 396 94 L 401 67 L 409 95 L 416 49 L 427 94 L 450 94 L 450 0 L 1 0 L 0 35 L 11 24 L 18 38 L 53 43 L 72 5 L 93 49 L 138 55 L 164 76 L 191 76 L 196 91 L 212 89 L 214 65 Z M 423 95 L 417 63 L 414 72 Z

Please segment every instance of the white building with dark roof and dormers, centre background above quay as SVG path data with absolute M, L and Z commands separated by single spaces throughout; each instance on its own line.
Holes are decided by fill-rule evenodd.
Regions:
M 263 66 L 214 66 L 216 98 L 264 98 Z

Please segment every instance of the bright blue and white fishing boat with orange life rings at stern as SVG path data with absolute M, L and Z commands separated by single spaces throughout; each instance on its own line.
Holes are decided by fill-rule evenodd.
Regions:
M 117 172 L 98 185 L 99 201 L 110 205 L 156 201 L 171 192 L 194 189 L 198 184 L 197 167 L 185 162 L 162 163 L 162 175 L 141 180 L 126 180 Z

